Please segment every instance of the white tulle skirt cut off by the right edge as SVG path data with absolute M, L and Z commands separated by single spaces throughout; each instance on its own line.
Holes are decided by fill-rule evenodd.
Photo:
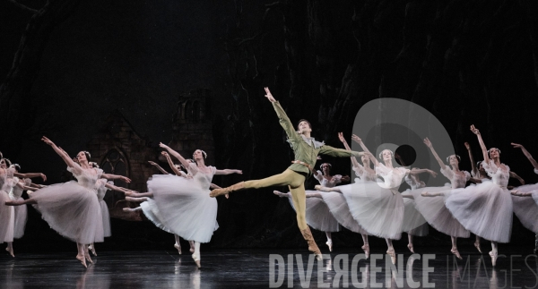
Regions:
M 538 183 L 525 184 L 514 190 L 523 192 L 538 190 Z M 533 198 L 512 196 L 516 217 L 525 228 L 533 231 L 534 234 L 538 234 L 538 201 L 536 200 L 538 200 L 538 194 L 535 192 Z

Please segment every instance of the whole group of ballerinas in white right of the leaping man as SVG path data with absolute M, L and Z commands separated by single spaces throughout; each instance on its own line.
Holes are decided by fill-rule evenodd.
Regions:
M 508 178 L 524 181 L 509 167 L 500 163 L 500 150 L 486 149 L 480 132 L 471 126 L 477 135 L 484 161 L 474 165 L 470 145 L 465 143 L 473 171 L 469 174 L 460 170 L 461 158 L 457 155 L 447 157 L 447 164 L 438 157 L 431 141 L 426 138 L 424 144 L 438 161 L 440 172 L 448 180 L 449 186 L 426 187 L 420 181 L 419 174 L 427 173 L 435 177 L 430 169 L 412 170 L 394 167 L 394 153 L 385 149 L 379 154 L 379 162 L 356 135 L 351 140 L 360 144 L 367 152 L 361 157 L 362 165 L 351 157 L 352 170 L 357 175 L 355 183 L 335 186 L 342 180 L 341 175 L 330 174 L 330 164 L 324 163 L 315 177 L 320 185 L 316 191 L 307 191 L 306 219 L 308 225 L 323 231 L 327 237 L 329 251 L 333 250 L 331 232 L 338 232 L 340 226 L 362 236 L 366 257 L 369 257 L 369 235 L 385 238 L 387 254 L 395 263 L 393 240 L 400 239 L 400 234 L 408 234 L 408 249 L 414 253 L 412 237 L 428 234 L 428 225 L 451 237 L 451 252 L 462 259 L 457 249 L 457 238 L 468 238 L 470 233 L 476 235 L 474 246 L 482 253 L 480 238 L 491 242 L 490 258 L 493 266 L 498 257 L 498 242 L 509 242 L 512 227 L 512 212 L 526 228 L 538 234 L 538 184 L 522 185 L 517 188 L 508 186 Z M 343 134 L 339 138 L 346 149 L 350 149 Z M 512 143 L 514 148 L 522 149 L 525 156 L 538 174 L 538 163 L 522 146 Z M 351 150 L 351 149 L 350 149 Z M 398 162 L 405 166 L 402 158 Z M 373 163 L 374 168 L 371 168 Z M 465 187 L 470 181 L 474 184 Z M 406 182 L 411 189 L 398 192 L 400 183 Z M 510 196 L 510 191 L 512 196 Z M 290 193 L 274 191 L 280 197 L 291 197 Z M 533 197 L 533 200 L 521 197 Z

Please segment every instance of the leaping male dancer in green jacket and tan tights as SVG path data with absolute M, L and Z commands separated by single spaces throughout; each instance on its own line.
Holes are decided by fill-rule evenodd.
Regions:
M 276 174 L 262 180 L 247 181 L 236 183 L 225 189 L 215 189 L 211 191 L 212 198 L 230 193 L 232 191 L 240 191 L 244 189 L 260 189 L 270 186 L 287 185 L 291 191 L 293 206 L 297 211 L 297 225 L 303 238 L 308 242 L 308 250 L 316 254 L 317 259 L 322 259 L 321 251 L 317 247 L 314 237 L 310 232 L 306 220 L 306 195 L 305 195 L 305 180 L 313 173 L 313 168 L 316 164 L 317 155 L 325 154 L 333 157 L 360 157 L 363 153 L 356 151 L 347 151 L 344 149 L 334 149 L 325 146 L 325 143 L 314 140 L 310 137 L 312 126 L 307 120 L 300 120 L 298 129 L 295 131 L 290 118 L 282 109 L 282 106 L 273 98 L 271 91 L 265 88 L 265 98 L 272 104 L 276 115 L 279 118 L 284 132 L 288 135 L 288 142 L 293 149 L 295 160 L 291 161 L 292 165 L 288 167 L 282 174 Z

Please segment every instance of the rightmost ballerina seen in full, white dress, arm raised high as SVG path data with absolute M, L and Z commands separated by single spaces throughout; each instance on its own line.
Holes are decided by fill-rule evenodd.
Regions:
M 497 262 L 498 242 L 509 242 L 512 230 L 512 199 L 507 185 L 510 168 L 500 162 L 500 150 L 486 149 L 480 131 L 471 125 L 482 148 L 482 166 L 491 176 L 491 182 L 479 183 L 446 195 L 445 205 L 465 229 L 491 242 L 491 264 Z

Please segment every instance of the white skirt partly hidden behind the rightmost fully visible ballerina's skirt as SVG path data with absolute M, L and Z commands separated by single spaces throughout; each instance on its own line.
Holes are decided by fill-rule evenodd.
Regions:
M 449 193 L 450 187 L 426 187 L 418 190 L 412 190 L 415 208 L 421 212 L 422 217 L 428 224 L 443 234 L 458 238 L 469 238 L 469 230 L 465 229 L 450 210 L 445 206 L 445 197 L 422 197 L 422 191 L 438 192 L 444 191 Z

